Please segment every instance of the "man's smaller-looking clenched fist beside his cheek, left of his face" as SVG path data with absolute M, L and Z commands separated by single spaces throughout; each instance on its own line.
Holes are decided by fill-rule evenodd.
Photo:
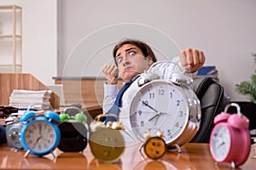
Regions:
M 117 84 L 119 70 L 115 65 L 105 65 L 102 72 L 108 80 L 108 84 Z

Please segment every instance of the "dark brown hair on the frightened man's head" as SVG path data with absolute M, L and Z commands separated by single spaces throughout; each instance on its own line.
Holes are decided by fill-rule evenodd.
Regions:
M 113 60 L 115 62 L 115 65 L 117 65 L 116 60 L 115 60 L 116 52 L 119 50 L 119 48 L 121 48 L 125 44 L 132 44 L 132 45 L 137 46 L 137 48 L 140 48 L 142 50 L 144 57 L 148 57 L 148 55 L 150 55 L 153 63 L 156 62 L 156 58 L 155 58 L 154 52 L 148 46 L 147 43 L 139 41 L 139 40 L 134 40 L 134 39 L 125 39 L 124 41 L 119 42 L 113 48 Z

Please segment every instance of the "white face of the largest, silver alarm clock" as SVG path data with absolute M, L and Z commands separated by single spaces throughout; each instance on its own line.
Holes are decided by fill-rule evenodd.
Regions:
M 139 139 L 143 140 L 143 134 L 150 129 L 152 136 L 163 132 L 169 144 L 183 133 L 189 121 L 189 101 L 183 89 L 171 82 L 148 82 L 133 97 L 130 116 Z

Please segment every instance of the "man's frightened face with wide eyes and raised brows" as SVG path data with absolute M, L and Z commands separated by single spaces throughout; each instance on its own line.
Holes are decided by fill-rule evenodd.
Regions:
M 133 44 L 120 47 L 116 52 L 115 60 L 124 82 L 130 82 L 137 74 L 148 70 L 152 64 L 152 59 L 144 57 L 142 50 Z

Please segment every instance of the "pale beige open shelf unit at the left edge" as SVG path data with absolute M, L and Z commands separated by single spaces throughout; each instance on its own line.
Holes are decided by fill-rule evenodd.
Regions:
M 1 15 L 3 16 L 0 20 L 3 29 L 0 32 L 0 43 L 8 48 L 2 48 L 0 51 L 0 72 L 22 72 L 22 8 L 17 5 L 0 6 Z M 12 16 L 10 17 L 12 19 L 9 16 Z M 8 29 L 4 29 L 4 27 Z M 11 43 L 11 47 L 9 47 L 9 43 Z

